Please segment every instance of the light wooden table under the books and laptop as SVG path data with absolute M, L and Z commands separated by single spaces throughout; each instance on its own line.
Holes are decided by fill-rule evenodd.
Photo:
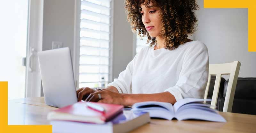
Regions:
M 44 97 L 22 98 L 8 101 L 9 125 L 47 125 L 47 113 L 57 108 L 44 103 Z M 151 119 L 131 133 L 256 133 L 256 115 L 219 112 L 227 122 L 207 122 L 196 120 Z

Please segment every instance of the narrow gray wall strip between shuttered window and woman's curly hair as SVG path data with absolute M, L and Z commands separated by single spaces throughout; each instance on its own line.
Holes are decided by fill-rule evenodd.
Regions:
M 114 0 L 113 78 L 118 78 L 133 58 L 133 33 L 124 11 L 124 1 Z

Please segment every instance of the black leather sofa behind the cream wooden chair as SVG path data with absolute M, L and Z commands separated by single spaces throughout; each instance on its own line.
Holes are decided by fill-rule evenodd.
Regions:
M 212 76 L 207 98 L 212 99 L 215 77 Z M 216 109 L 223 110 L 228 80 L 221 78 Z M 211 103 L 211 102 L 208 102 Z M 233 113 L 256 115 L 256 78 L 237 79 L 236 92 L 232 107 Z

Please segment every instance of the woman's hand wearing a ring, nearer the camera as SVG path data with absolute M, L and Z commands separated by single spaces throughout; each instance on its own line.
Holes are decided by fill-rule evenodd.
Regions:
M 99 98 L 99 94 L 101 96 L 101 99 Z M 114 92 L 108 89 L 102 89 L 100 91 L 91 93 L 85 101 L 98 101 L 101 103 L 120 104 L 126 106 L 124 94 L 120 94 L 118 92 Z

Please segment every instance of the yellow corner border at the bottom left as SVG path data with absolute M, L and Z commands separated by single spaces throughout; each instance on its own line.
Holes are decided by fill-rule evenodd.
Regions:
M 2 133 L 52 133 L 52 125 L 8 125 L 8 82 L 0 81 L 1 123 Z

